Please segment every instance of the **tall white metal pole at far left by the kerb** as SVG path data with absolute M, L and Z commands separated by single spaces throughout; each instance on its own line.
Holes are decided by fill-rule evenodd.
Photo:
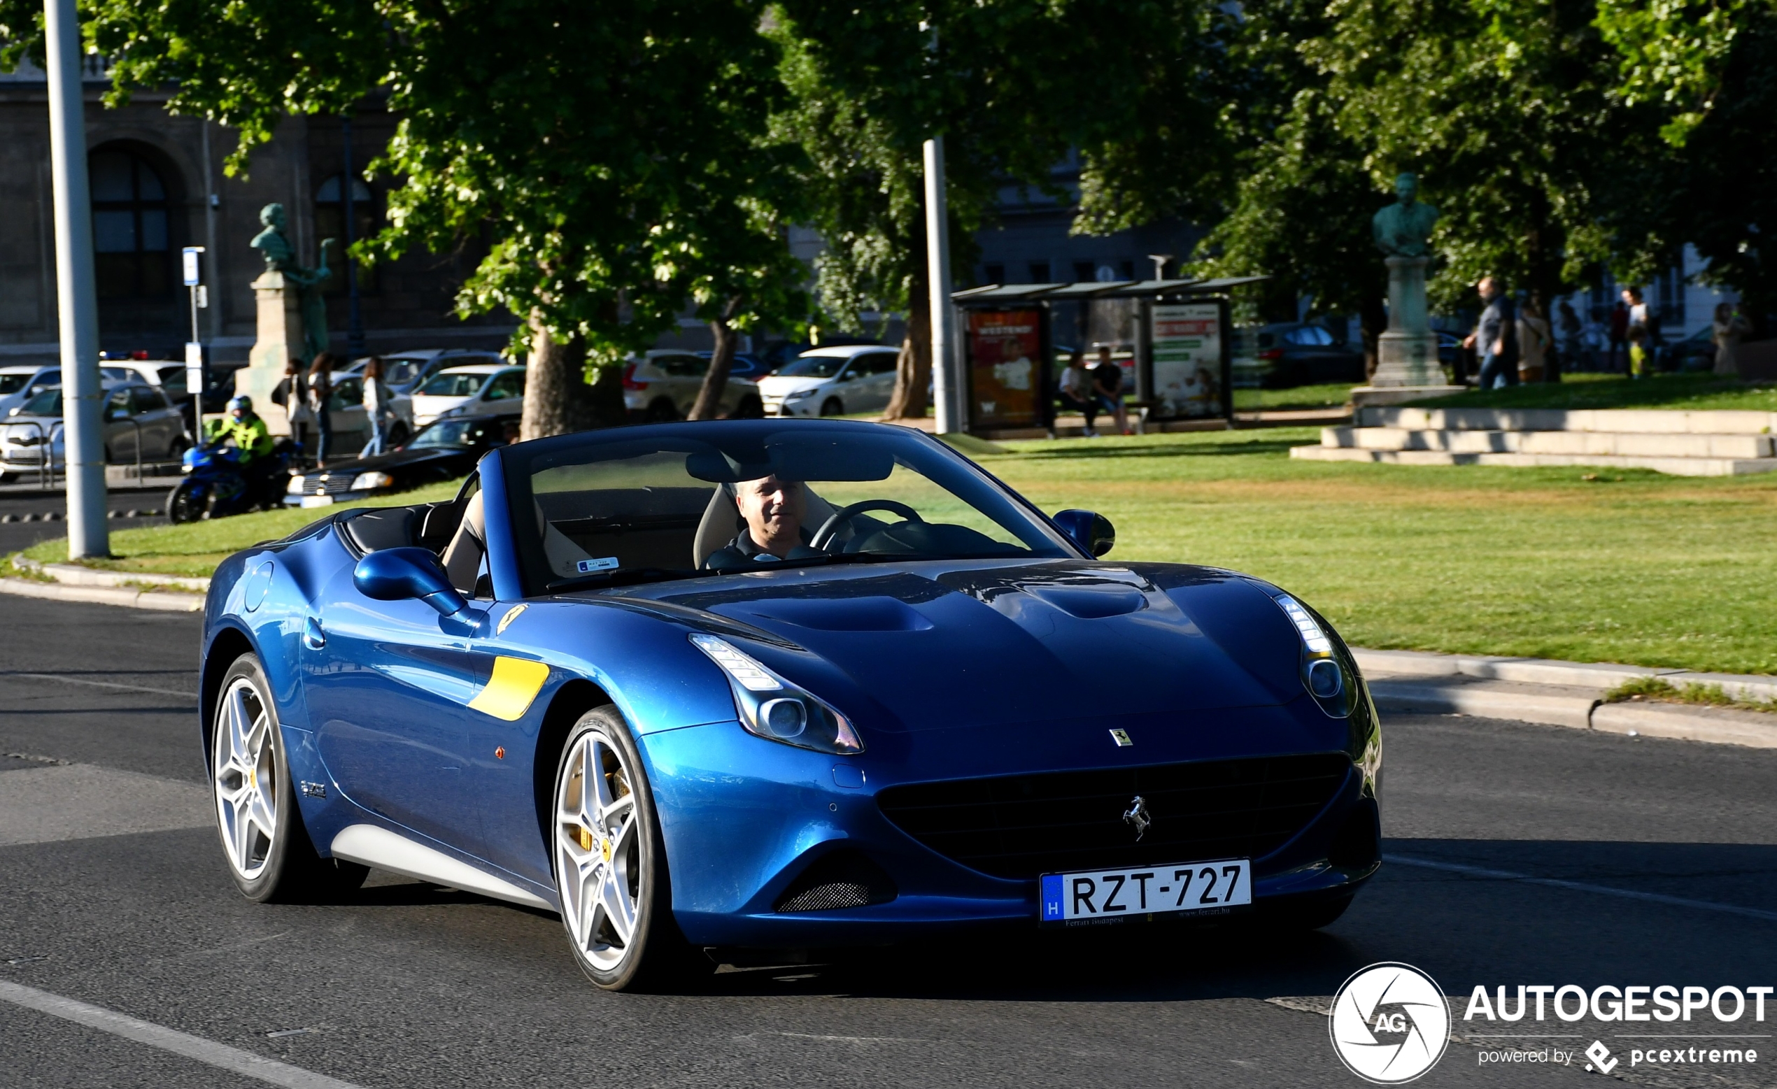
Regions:
M 105 441 L 100 432 L 100 316 L 92 279 L 92 201 L 80 94 L 75 0 L 44 0 L 50 60 L 50 176 L 55 187 L 55 295 L 62 338 L 62 446 L 68 465 L 68 556 L 108 556 Z M 43 451 L 50 455 L 48 446 Z

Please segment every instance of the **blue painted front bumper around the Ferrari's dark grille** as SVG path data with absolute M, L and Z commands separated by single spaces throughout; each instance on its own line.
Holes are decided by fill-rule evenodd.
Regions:
M 833 757 L 775 744 L 737 723 L 665 730 L 641 737 L 672 872 L 673 917 L 697 945 L 819 947 L 881 943 L 968 926 L 1036 929 L 1036 874 L 993 878 L 903 831 L 878 807 L 878 792 L 903 782 L 1139 767 L 1176 760 L 1345 751 L 1345 723 L 1306 698 L 1288 707 L 1239 709 L 1212 730 L 1155 723 L 1136 750 L 1105 741 L 1107 721 L 1040 728 L 961 728 L 874 734 L 871 750 Z M 1120 721 L 1120 719 L 1118 719 Z M 1208 723 L 1205 723 L 1207 727 Z M 1230 743 L 1230 737 L 1237 739 Z M 1105 751 L 1109 750 L 1109 751 Z M 846 785 L 857 783 L 857 785 Z M 1255 858 L 1255 908 L 1351 895 L 1377 869 L 1374 858 L 1335 862 L 1349 824 L 1374 828 L 1374 785 L 1356 766 L 1331 799 L 1279 847 Z M 1374 837 L 1372 837 L 1374 839 Z M 810 865 L 862 855 L 881 869 L 894 899 L 871 906 L 780 911 Z M 1153 858 L 1151 865 L 1201 858 Z M 1150 865 L 1141 863 L 1141 865 Z M 1164 918 L 1164 917 L 1160 917 Z

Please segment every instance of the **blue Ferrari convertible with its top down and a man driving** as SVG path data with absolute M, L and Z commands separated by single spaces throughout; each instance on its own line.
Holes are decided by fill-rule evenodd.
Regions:
M 217 570 L 229 870 L 556 911 L 611 990 L 967 927 L 1338 918 L 1381 862 L 1351 652 L 1278 586 L 1111 545 L 896 426 L 492 449 L 450 503 Z

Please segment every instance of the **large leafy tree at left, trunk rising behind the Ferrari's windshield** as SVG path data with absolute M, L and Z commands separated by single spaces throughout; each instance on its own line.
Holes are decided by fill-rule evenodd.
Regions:
M 9 36 L 28 34 L 25 9 L 0 0 Z M 91 46 L 114 59 L 112 99 L 172 85 L 171 108 L 238 128 L 229 169 L 284 112 L 387 94 L 402 123 L 371 169 L 400 185 L 361 256 L 492 236 L 458 309 L 526 320 L 537 389 L 526 437 L 620 414 L 611 364 L 688 300 L 723 323 L 793 300 L 771 210 L 785 158 L 759 147 L 777 48 L 757 32 L 755 0 L 85 0 L 84 11 Z M 586 389 L 579 368 L 602 382 Z

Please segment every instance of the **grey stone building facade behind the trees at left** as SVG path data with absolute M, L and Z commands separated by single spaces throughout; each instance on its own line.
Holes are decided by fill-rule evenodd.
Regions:
M 254 151 L 243 176 L 222 163 L 235 133 L 165 110 L 165 94 L 139 92 L 119 110 L 100 96 L 103 71 L 85 73 L 87 169 L 92 185 L 94 259 L 100 288 L 100 348 L 183 359 L 190 302 L 179 281 L 179 249 L 204 247 L 208 309 L 199 338 L 217 361 L 245 361 L 254 339 L 259 254 L 247 247 L 259 210 L 274 201 L 290 217 L 290 238 L 313 265 L 323 236 L 343 242 L 345 133 L 334 117 L 286 119 Z M 394 119 L 366 107 L 350 124 L 357 236 L 379 227 L 387 179 L 363 179 L 364 163 L 387 146 Z M 55 227 L 50 183 L 50 105 L 41 71 L 0 76 L 0 364 L 57 357 Z M 467 322 L 451 313 L 457 286 L 482 250 L 409 252 L 363 266 L 359 311 L 366 350 L 455 348 L 506 343 L 510 314 Z M 348 298 L 336 274 L 327 293 L 334 350 L 347 348 Z

